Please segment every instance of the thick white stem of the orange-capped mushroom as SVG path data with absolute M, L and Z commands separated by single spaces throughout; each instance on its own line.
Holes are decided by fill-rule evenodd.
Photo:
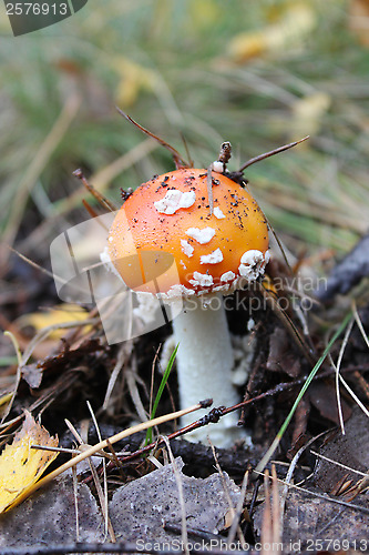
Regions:
M 191 296 L 185 310 L 174 319 L 173 329 L 180 347 L 176 356 L 181 406 L 212 397 L 213 406 L 232 406 L 238 403 L 232 383 L 234 356 L 224 309 L 223 295 L 211 299 Z M 198 411 L 201 418 L 208 411 Z M 245 431 L 237 427 L 238 415 L 233 412 L 218 423 L 186 434 L 192 442 L 207 443 L 207 436 L 218 447 L 229 447 L 236 440 L 245 438 Z M 181 424 L 194 422 L 192 415 L 183 416 Z

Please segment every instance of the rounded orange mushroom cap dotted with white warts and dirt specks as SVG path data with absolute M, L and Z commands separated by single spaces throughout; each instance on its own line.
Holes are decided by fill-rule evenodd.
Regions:
M 206 170 L 181 169 L 143 183 L 117 212 L 107 252 L 134 291 L 203 294 L 253 281 L 268 261 L 268 229 L 253 196 Z

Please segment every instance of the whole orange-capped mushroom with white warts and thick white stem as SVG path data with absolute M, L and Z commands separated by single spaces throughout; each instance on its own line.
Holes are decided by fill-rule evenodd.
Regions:
M 234 359 L 223 295 L 256 280 L 269 256 L 260 209 L 218 165 L 213 164 L 218 171 L 211 174 L 213 210 L 207 170 L 178 169 L 136 189 L 117 212 L 109 236 L 110 260 L 129 287 L 160 294 L 164 302 L 185 299 L 184 311 L 173 321 L 182 406 L 207 397 L 214 406 L 239 401 L 232 383 Z M 148 279 L 143 283 L 141 272 L 127 263 L 150 251 L 171 254 L 176 263 L 177 281 L 168 274 L 160 291 Z M 191 422 L 188 416 L 182 424 Z M 233 412 L 191 435 L 191 441 L 203 442 L 208 435 L 215 445 L 227 447 L 244 437 L 244 431 Z

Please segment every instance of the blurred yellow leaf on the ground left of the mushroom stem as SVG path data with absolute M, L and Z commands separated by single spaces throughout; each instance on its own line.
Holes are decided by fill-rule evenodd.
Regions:
M 48 312 L 31 312 L 30 314 L 24 314 L 19 317 L 17 323 L 21 327 L 28 325 L 34 327 L 34 330 L 40 331 L 50 325 L 66 324 L 68 322 L 83 322 L 89 317 L 89 313 L 78 306 L 76 304 L 59 304 L 54 309 Z M 58 340 L 65 334 L 65 330 L 55 330 L 50 333 L 49 337 L 52 340 Z

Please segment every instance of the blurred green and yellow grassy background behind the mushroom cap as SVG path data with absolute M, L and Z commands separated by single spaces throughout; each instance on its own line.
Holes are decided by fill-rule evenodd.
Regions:
M 285 243 L 318 263 L 368 229 L 369 2 L 366 0 L 104 0 L 28 36 L 0 24 L 2 245 L 49 265 L 52 239 L 88 218 L 72 171 L 120 204 L 229 140 Z M 2 251 L 2 268 L 9 250 Z

